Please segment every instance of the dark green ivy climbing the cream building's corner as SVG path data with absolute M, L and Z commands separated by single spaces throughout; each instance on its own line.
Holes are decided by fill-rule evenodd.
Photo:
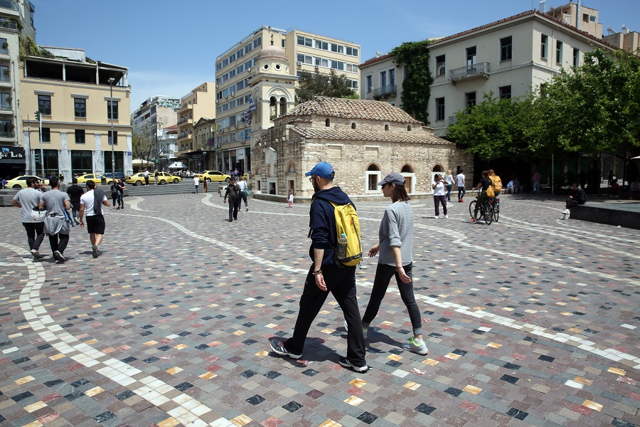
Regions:
M 393 48 L 389 55 L 395 64 L 405 65 L 406 77 L 402 81 L 402 110 L 416 120 L 429 124 L 429 99 L 433 77 L 429 68 L 430 41 L 408 41 Z

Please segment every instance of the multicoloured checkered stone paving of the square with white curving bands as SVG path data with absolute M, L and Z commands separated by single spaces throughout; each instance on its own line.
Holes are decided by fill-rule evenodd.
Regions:
M 100 258 L 76 227 L 64 264 L 46 241 L 33 261 L 0 208 L 0 425 L 640 425 L 636 231 L 560 221 L 560 199 L 503 196 L 491 226 L 412 201 L 429 353 L 402 350 L 392 284 L 356 374 L 332 297 L 302 359 L 270 352 L 297 317 L 308 206 L 252 199 L 231 224 L 215 194 L 131 199 L 105 213 Z M 357 206 L 367 249 L 386 203 Z

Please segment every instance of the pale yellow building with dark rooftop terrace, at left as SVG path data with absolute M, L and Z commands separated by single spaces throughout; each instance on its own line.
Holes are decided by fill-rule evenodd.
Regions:
M 28 56 L 20 63 L 26 172 L 40 172 L 43 162 L 46 175 L 63 174 L 65 181 L 110 172 L 113 164 L 131 174 L 128 68 L 87 60 L 82 49 L 47 50 L 55 58 Z

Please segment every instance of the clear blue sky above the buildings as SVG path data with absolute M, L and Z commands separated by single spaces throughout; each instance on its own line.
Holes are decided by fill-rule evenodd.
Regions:
M 530 9 L 539 0 L 31 0 L 36 43 L 84 48 L 129 67 L 132 110 L 153 95 L 186 95 L 215 78 L 215 57 L 263 25 L 361 45 L 361 60 L 403 41 L 449 36 Z M 547 0 L 561 6 L 568 0 Z M 640 0 L 584 0 L 599 21 L 640 31 Z

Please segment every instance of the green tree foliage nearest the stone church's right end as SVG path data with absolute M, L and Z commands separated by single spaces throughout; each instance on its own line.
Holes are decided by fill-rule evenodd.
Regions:
M 535 149 L 529 144 L 536 132 L 533 110 L 530 97 L 498 99 L 493 92 L 485 93 L 481 103 L 456 113 L 456 122 L 447 127 L 447 139 L 487 161 L 528 158 Z

